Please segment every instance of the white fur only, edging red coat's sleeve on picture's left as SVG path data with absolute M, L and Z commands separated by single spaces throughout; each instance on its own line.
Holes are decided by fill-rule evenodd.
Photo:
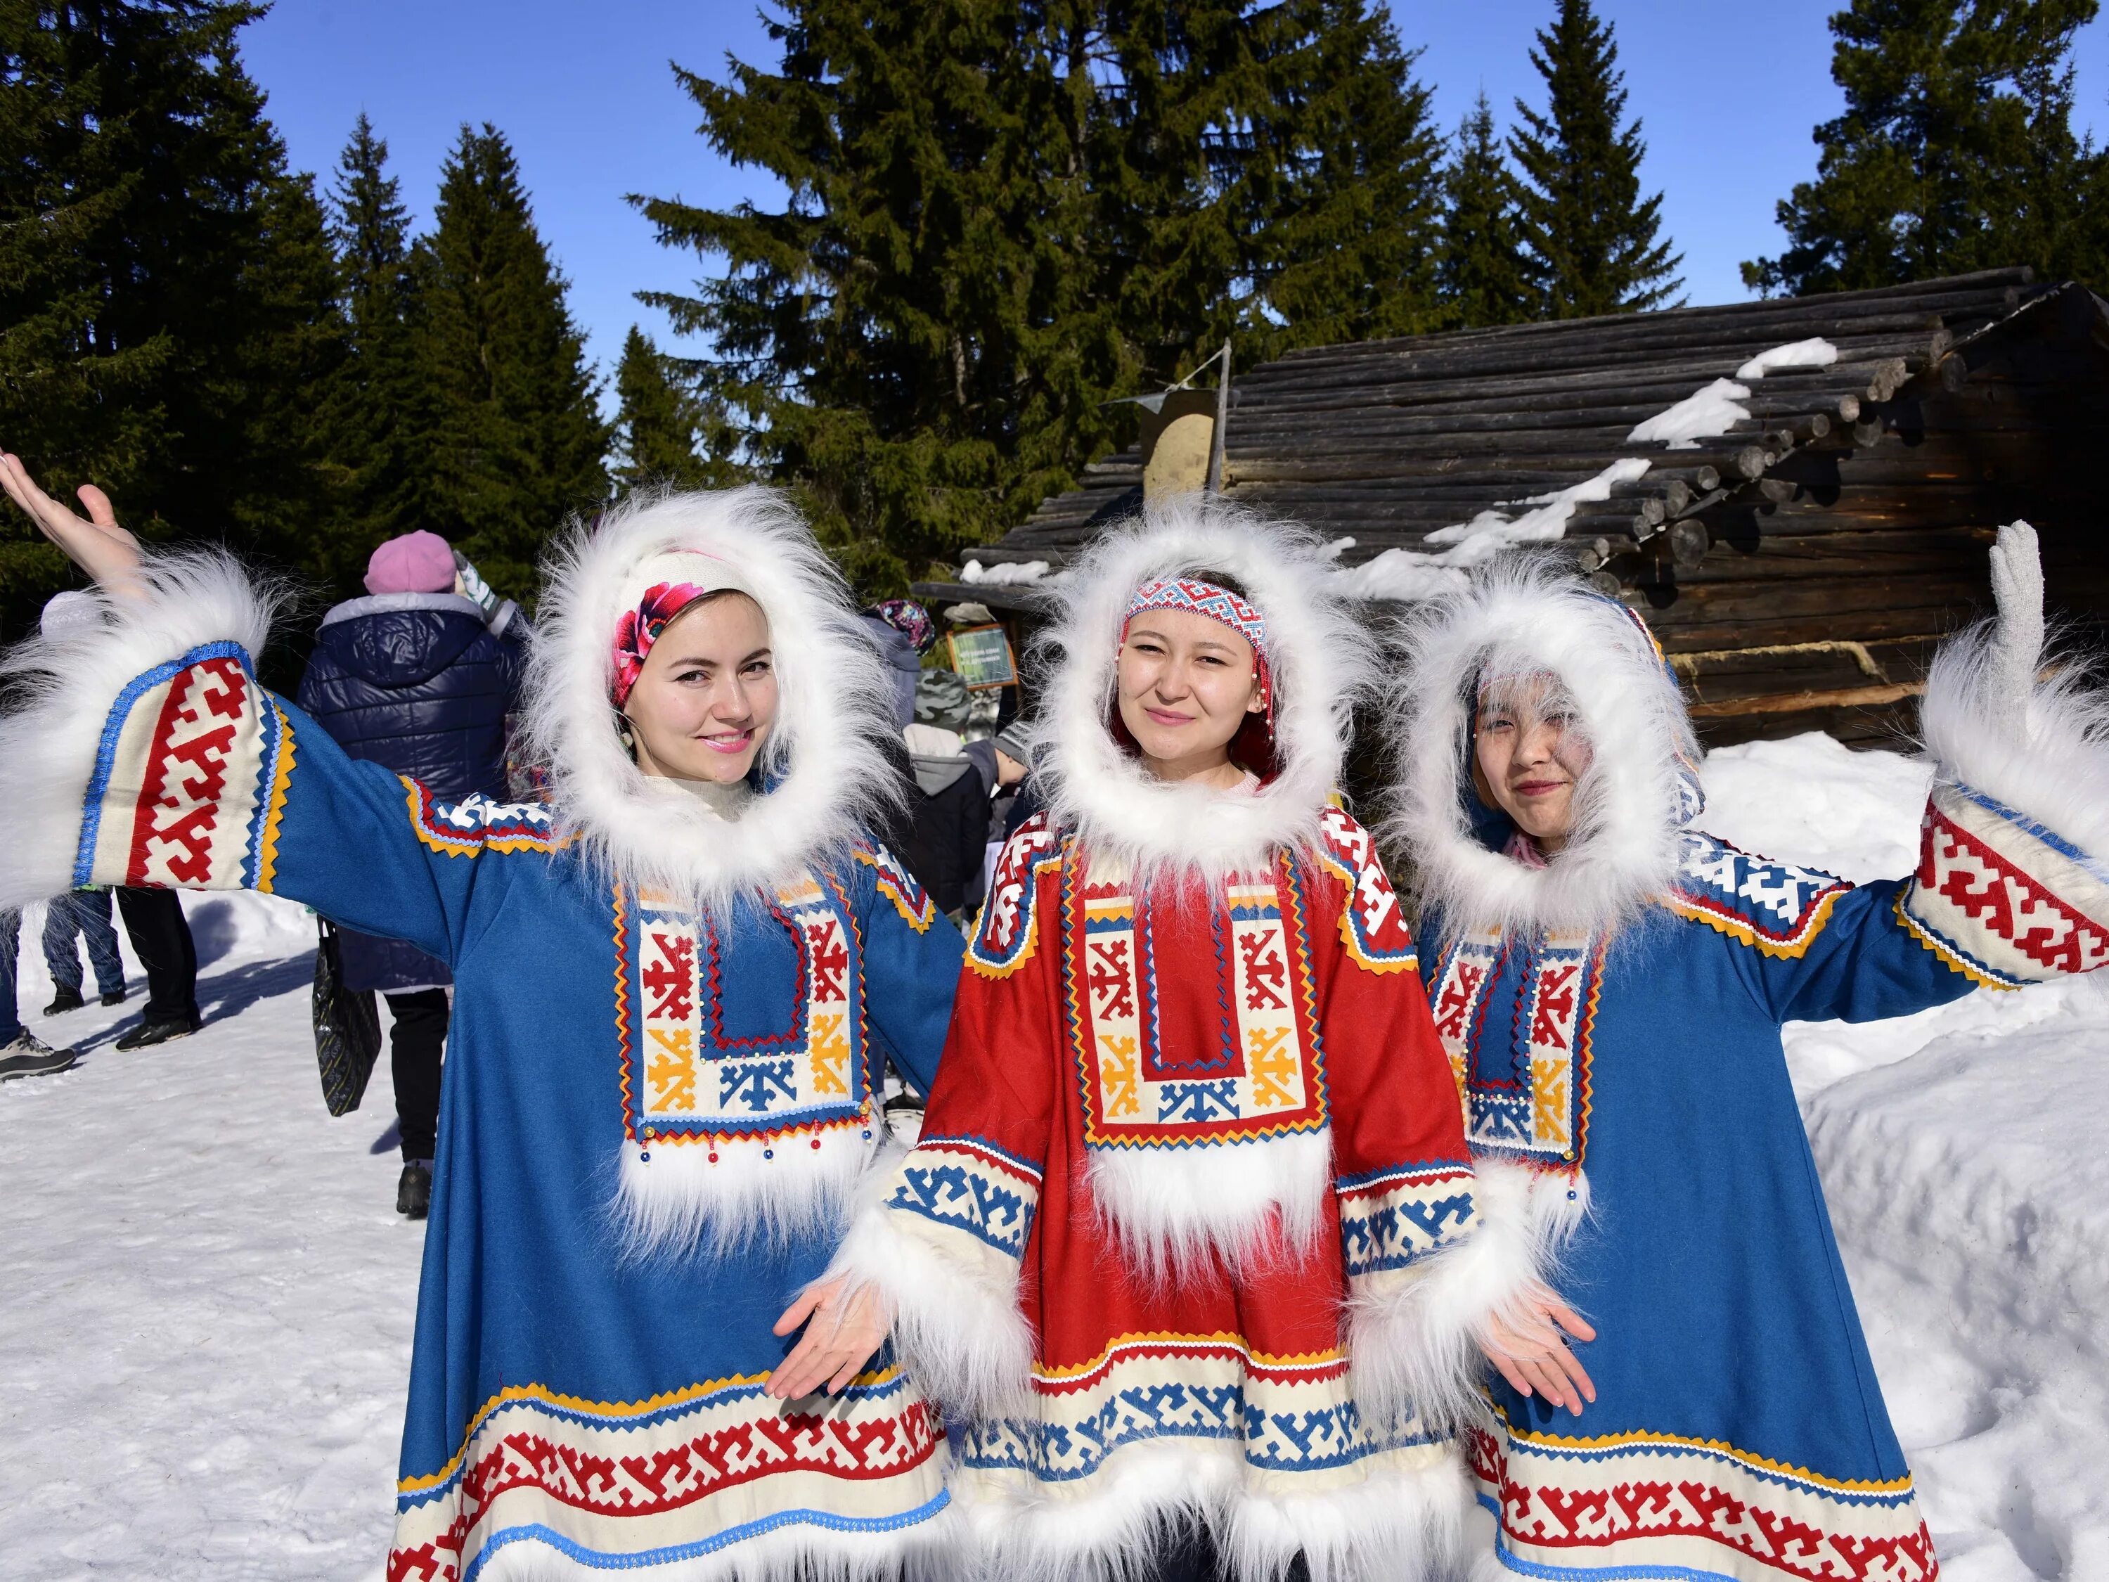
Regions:
M 892 1171 L 879 1179 L 890 1188 Z M 924 1394 L 974 1417 L 1029 1409 L 1033 1331 L 1014 1257 L 964 1232 L 922 1234 L 913 1215 L 875 1198 L 820 1278 L 837 1276 L 886 1297 L 901 1365 Z

